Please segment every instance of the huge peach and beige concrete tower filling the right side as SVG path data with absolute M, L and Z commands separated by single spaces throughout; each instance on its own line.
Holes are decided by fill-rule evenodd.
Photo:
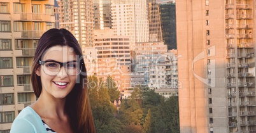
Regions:
M 256 132 L 254 10 L 176 1 L 181 132 Z

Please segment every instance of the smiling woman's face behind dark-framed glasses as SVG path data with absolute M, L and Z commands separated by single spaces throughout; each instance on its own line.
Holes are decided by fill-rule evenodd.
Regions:
M 72 69 L 74 63 L 76 65 L 80 62 L 73 48 L 69 46 L 50 47 L 43 54 L 41 62 L 43 64 L 39 65 L 38 70 L 36 70 L 36 74 L 41 77 L 42 83 L 40 97 L 66 98 L 69 92 L 72 91 L 78 77 L 78 75 L 70 74 L 74 72 L 69 70 L 69 68 Z

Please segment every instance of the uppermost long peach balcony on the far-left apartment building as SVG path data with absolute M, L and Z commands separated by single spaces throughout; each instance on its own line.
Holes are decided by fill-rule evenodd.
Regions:
M 13 20 L 50 22 L 51 15 L 46 15 L 43 13 L 15 13 L 13 14 Z

